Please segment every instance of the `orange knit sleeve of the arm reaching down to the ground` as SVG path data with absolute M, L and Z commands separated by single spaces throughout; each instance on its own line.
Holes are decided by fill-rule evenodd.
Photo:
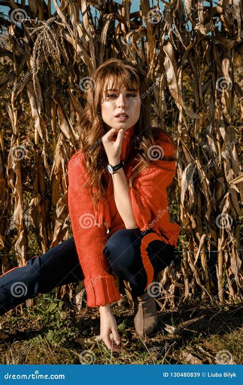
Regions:
M 90 189 L 82 187 L 86 178 L 82 153 L 68 165 L 68 207 L 80 265 L 85 276 L 88 306 L 104 306 L 120 299 L 114 277 L 103 254 L 106 227 L 96 224 Z

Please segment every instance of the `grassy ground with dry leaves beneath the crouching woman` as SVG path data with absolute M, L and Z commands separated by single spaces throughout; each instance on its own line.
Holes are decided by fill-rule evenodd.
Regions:
M 211 307 L 210 307 L 211 306 Z M 38 295 L 32 307 L 19 307 L 2 316 L 2 364 L 181 364 L 241 363 L 242 307 L 196 304 L 158 312 L 154 335 L 141 339 L 134 330 L 126 296 L 112 304 L 121 353 L 111 353 L 96 337 L 99 312 L 77 311 L 55 292 Z M 82 342 L 82 344 L 76 341 Z M 81 337 L 81 338 L 80 338 Z M 222 362 L 221 362 L 221 361 Z

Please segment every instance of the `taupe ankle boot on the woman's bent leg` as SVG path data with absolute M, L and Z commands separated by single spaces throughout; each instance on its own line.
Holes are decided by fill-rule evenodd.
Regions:
M 145 292 L 140 297 L 133 298 L 134 325 L 140 337 L 149 336 L 157 323 L 155 300 Z

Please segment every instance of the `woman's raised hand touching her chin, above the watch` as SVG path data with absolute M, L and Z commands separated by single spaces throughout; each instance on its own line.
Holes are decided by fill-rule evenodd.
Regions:
M 117 135 L 116 140 L 113 142 L 111 139 Z M 124 130 L 117 131 L 115 128 L 111 128 L 103 137 L 102 143 L 105 147 L 108 162 L 115 166 L 120 162 L 120 154 L 122 153 L 122 143 L 125 138 Z

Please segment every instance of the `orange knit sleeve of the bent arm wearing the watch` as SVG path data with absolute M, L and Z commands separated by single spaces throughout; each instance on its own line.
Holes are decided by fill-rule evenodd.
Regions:
M 160 148 L 159 148 L 159 147 Z M 163 148 L 163 151 L 161 151 Z M 164 157 L 174 155 L 174 146 L 157 141 L 157 151 Z M 156 156 L 154 154 L 156 159 Z M 156 232 L 170 233 L 171 244 L 176 244 L 179 226 L 169 220 L 168 196 L 166 188 L 175 175 L 175 161 L 153 160 L 149 167 L 141 171 L 133 181 L 129 194 L 136 223 L 141 231 L 152 228 Z M 164 226 L 163 226 L 164 225 Z

